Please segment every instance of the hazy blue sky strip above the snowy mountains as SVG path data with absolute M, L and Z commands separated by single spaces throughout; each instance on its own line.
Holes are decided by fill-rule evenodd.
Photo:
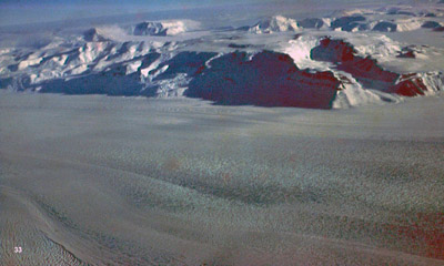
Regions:
M 39 23 L 39 22 L 52 22 L 52 21 L 70 21 L 75 19 L 91 19 L 99 17 L 109 17 L 109 16 L 124 16 L 124 14 L 135 14 L 142 16 L 148 12 L 158 12 L 158 11 L 183 11 L 189 12 L 192 10 L 201 10 L 201 9 L 224 9 L 224 8 L 233 8 L 242 6 L 244 12 L 253 12 L 246 13 L 246 16 L 252 16 L 254 12 L 258 12 L 261 9 L 262 12 L 270 11 L 276 12 L 276 10 L 282 10 L 283 12 L 287 12 L 291 10 L 301 10 L 304 8 L 304 11 L 309 12 L 312 10 L 334 10 L 341 8 L 349 7 L 359 7 L 359 6 L 377 6 L 377 4 L 394 4 L 400 1 L 390 0 L 390 1 L 369 1 L 361 0 L 354 1 L 350 3 L 344 0 L 334 0 L 334 1 L 314 1 L 314 0 L 302 0 L 302 1 L 289 1 L 289 0 L 249 0 L 249 1 L 224 1 L 220 3 L 214 0 L 205 0 L 205 1 L 176 1 L 176 0 L 168 0 L 160 1 L 154 0 L 150 2 L 141 1 L 141 0 L 131 0 L 125 2 L 117 2 L 112 0 L 94 0 L 94 1 L 82 1 L 82 0 L 69 0 L 69 1 L 56 1 L 56 0 L 43 0 L 43 1 L 34 1 L 34 0 L 26 0 L 26 1 L 2 1 L 0 3 L 0 25 L 19 25 L 19 24 L 28 24 L 28 23 Z M 426 3 L 425 1 L 413 1 L 406 0 L 402 1 L 405 3 Z M 254 8 L 254 9 L 252 9 Z M 261 12 L 259 12 L 261 14 Z

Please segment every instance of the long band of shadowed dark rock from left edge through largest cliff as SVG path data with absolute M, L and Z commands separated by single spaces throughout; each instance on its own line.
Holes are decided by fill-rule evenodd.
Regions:
M 38 84 L 30 84 L 29 79 L 10 79 L 0 83 L 4 88 L 39 90 L 43 93 L 154 96 L 163 81 L 175 82 L 174 78 L 183 73 L 189 78 L 182 84 L 189 88 L 185 96 L 225 105 L 310 109 L 331 109 L 342 83 L 330 71 L 297 69 L 290 55 L 284 53 L 261 51 L 252 55 L 236 51 L 219 58 L 216 55 L 212 52 L 180 52 L 150 71 L 149 74 L 155 76 L 152 80 L 145 80 L 141 73 L 142 69 L 160 58 L 159 53 L 70 79 L 46 80 Z M 128 65 L 135 61 L 141 61 L 138 70 L 128 72 Z

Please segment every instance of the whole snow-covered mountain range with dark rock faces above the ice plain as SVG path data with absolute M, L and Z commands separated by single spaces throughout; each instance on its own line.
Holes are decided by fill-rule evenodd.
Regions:
M 390 35 L 421 31 L 434 40 L 431 29 L 443 18 L 344 12 L 299 21 L 275 16 L 246 31 L 205 30 L 188 20 L 145 21 L 127 32 L 92 28 L 39 48 L 2 49 L 0 88 L 314 109 L 398 102 L 443 90 L 444 48 Z

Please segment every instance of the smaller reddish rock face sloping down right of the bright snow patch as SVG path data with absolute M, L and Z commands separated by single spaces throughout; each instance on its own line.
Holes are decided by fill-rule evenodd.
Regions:
M 353 45 L 342 40 L 324 38 L 320 45 L 312 49 L 311 58 L 335 63 L 339 70 L 351 73 L 365 88 L 404 96 L 423 95 L 427 90 L 416 74 L 400 75 L 384 70 L 376 60 L 356 55 Z

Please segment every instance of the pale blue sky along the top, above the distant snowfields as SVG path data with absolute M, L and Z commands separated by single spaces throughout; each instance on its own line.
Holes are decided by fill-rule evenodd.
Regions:
M 370 0 L 0 0 L 0 25 L 23 24 L 114 14 L 155 12 L 160 10 L 191 10 L 205 7 L 235 4 L 294 4 L 304 8 L 334 8 L 335 2 L 359 4 Z M 415 0 L 411 0 L 415 1 Z M 416 0 L 421 1 L 421 0 Z M 427 0 L 422 0 L 427 1 Z M 395 3 L 397 0 L 380 2 Z

